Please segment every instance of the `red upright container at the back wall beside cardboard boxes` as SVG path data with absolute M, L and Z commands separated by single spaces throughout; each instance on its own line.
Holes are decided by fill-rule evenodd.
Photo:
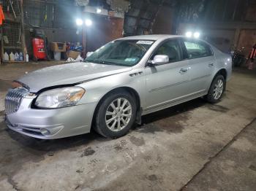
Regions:
M 32 39 L 33 53 L 35 60 L 44 60 L 45 55 L 45 41 L 43 39 L 34 38 Z

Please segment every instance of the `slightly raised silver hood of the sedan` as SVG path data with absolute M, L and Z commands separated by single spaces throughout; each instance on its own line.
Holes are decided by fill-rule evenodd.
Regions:
M 29 87 L 30 92 L 36 93 L 45 87 L 75 84 L 130 71 L 131 69 L 132 67 L 99 63 L 66 63 L 32 71 L 17 81 Z

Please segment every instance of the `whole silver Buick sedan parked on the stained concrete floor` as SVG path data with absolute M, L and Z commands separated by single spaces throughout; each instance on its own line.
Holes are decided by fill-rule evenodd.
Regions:
M 124 136 L 144 114 L 204 97 L 222 98 L 230 55 L 184 36 L 130 36 L 105 44 L 84 62 L 52 66 L 15 80 L 7 126 L 39 139 L 89 133 Z

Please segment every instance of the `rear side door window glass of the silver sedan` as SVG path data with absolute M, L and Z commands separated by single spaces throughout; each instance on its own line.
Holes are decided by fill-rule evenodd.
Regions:
M 187 54 L 189 59 L 192 58 L 201 58 L 206 56 L 211 56 L 211 47 L 204 42 L 195 42 L 184 40 L 185 47 L 187 48 Z

